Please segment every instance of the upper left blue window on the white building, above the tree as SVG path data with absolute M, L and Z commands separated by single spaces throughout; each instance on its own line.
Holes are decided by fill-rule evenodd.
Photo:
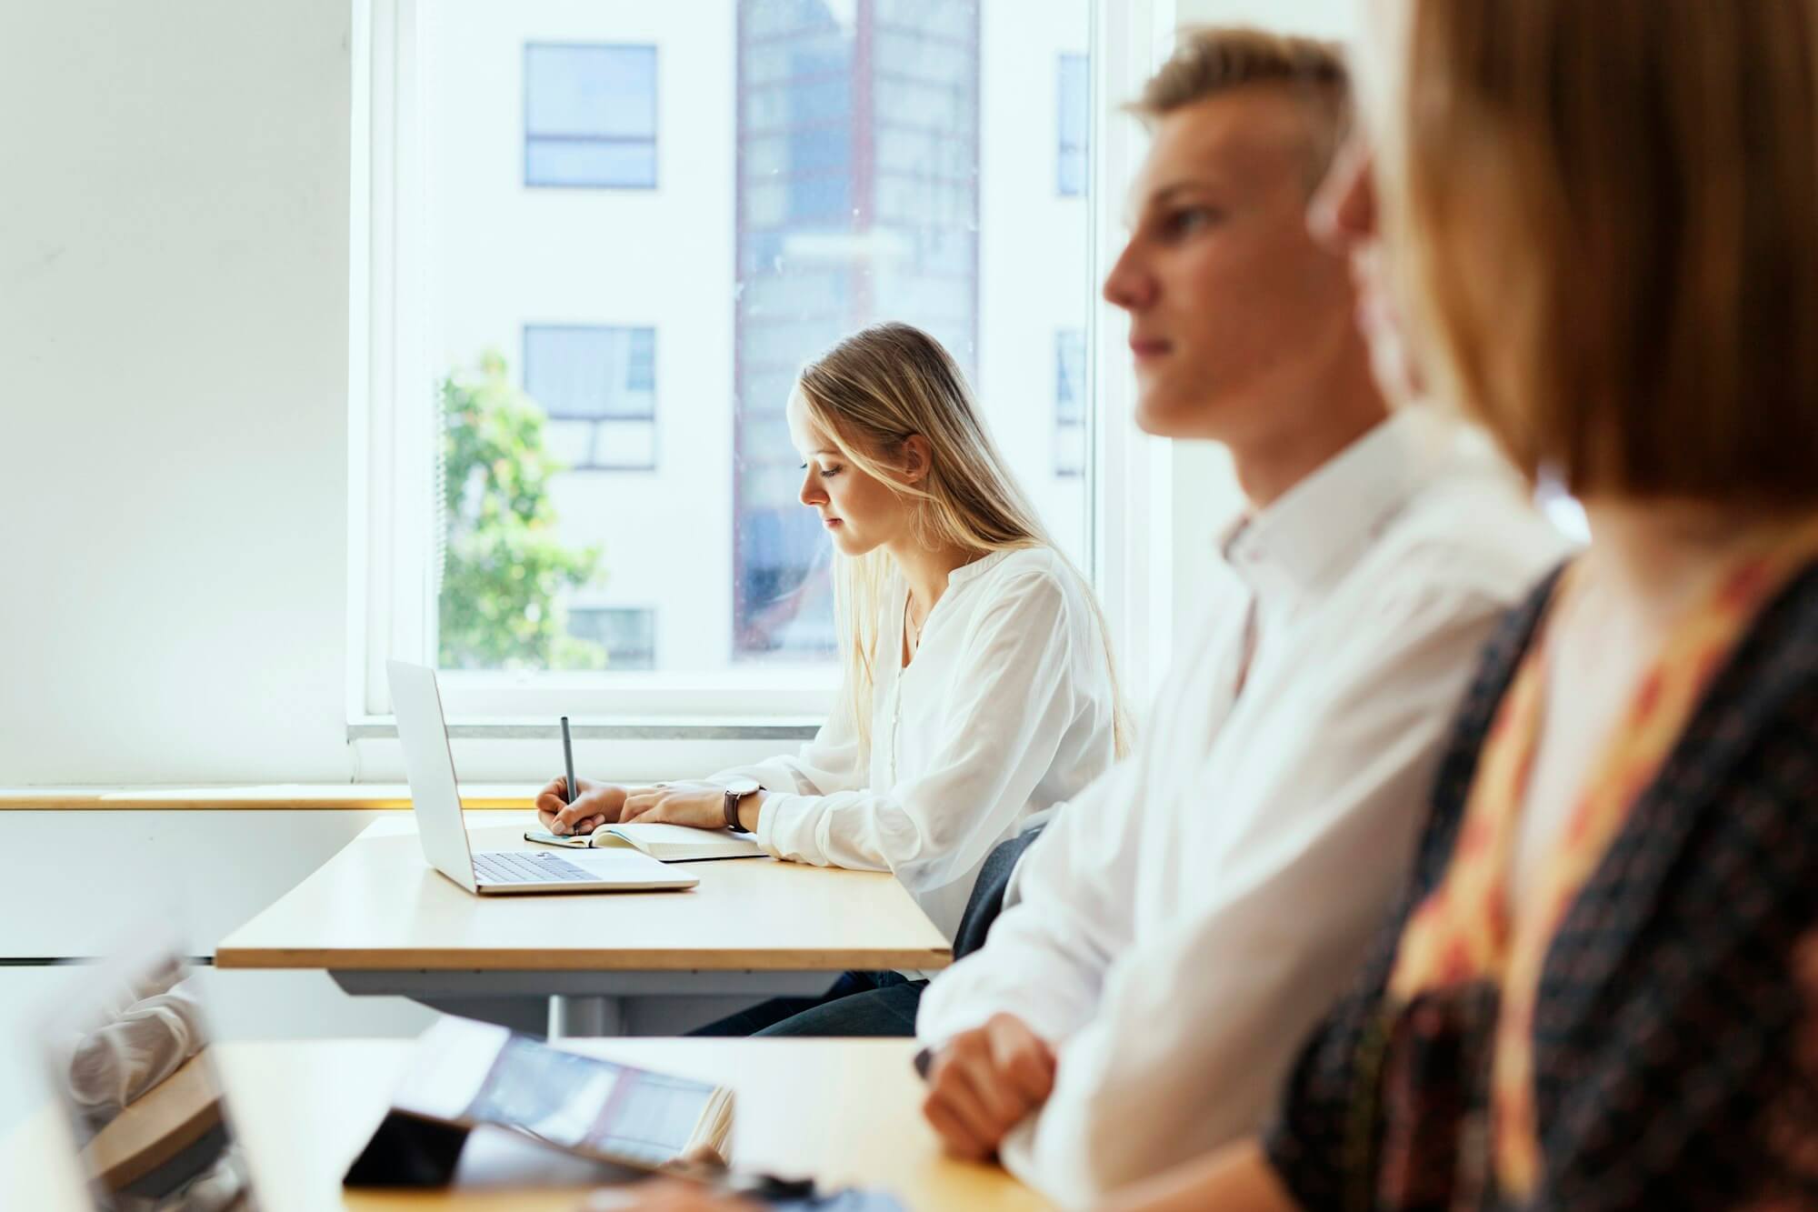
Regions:
M 656 47 L 524 47 L 524 184 L 656 187 Z

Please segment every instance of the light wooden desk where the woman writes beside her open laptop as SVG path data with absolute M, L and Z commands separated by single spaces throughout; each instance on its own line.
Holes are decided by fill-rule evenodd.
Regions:
M 529 813 L 469 812 L 474 850 L 529 850 Z M 687 892 L 474 897 L 435 872 L 415 817 L 376 821 L 215 948 L 218 968 L 322 968 L 349 994 L 485 1017 L 551 999 L 553 1035 L 614 1035 L 625 999 L 818 994 L 847 968 L 944 968 L 947 939 L 885 872 L 691 863 Z

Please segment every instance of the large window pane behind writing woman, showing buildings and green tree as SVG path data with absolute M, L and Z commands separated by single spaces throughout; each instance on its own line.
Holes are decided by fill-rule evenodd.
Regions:
M 1062 197 L 1047 98 L 1056 62 L 1084 87 L 1087 0 L 422 15 L 447 666 L 825 681 L 833 553 L 784 406 L 876 320 L 947 346 L 1084 564 L 1091 400 L 1056 333 L 1084 360 L 1087 102 Z M 600 613 L 631 610 L 647 655 Z

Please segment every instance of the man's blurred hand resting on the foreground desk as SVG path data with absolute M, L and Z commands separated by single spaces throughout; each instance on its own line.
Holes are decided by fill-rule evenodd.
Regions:
M 922 1114 L 947 1152 L 985 1161 L 1053 1090 L 1054 1050 L 1014 1014 L 994 1014 L 934 1057 Z

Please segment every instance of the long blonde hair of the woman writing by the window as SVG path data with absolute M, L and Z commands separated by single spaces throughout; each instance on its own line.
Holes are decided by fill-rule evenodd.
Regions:
M 978 555 L 1049 548 L 1078 577 L 1105 644 L 1116 755 L 1127 755 L 1129 713 L 1098 597 L 1036 519 L 978 415 L 965 375 L 942 344 L 909 324 L 873 324 L 802 368 L 796 391 L 809 420 L 847 462 L 913 502 L 909 524 L 922 546 Z M 927 440 L 931 455 L 920 484 L 904 482 L 894 464 L 913 435 Z M 871 742 L 873 661 L 887 561 L 882 548 L 834 561 L 849 708 L 865 746 Z

